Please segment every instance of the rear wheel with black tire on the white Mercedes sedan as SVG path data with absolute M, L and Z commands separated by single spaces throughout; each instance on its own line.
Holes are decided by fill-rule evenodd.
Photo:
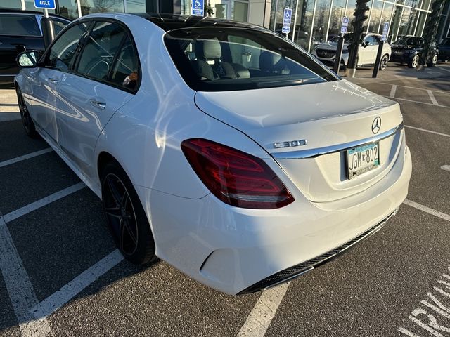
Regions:
M 146 212 L 127 173 L 115 161 L 101 172 L 103 211 L 117 248 L 135 265 L 158 260 Z

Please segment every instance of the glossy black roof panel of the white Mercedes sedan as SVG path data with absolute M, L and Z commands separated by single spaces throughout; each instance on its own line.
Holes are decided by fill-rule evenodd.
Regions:
M 174 14 L 160 14 L 160 13 L 134 13 L 141 18 L 145 18 L 161 29 L 168 32 L 169 30 L 192 28 L 192 27 L 233 27 L 233 28 L 247 28 L 266 31 L 263 27 L 252 25 L 245 22 L 237 22 L 232 20 L 225 20 L 219 18 L 210 18 L 194 15 L 174 15 Z

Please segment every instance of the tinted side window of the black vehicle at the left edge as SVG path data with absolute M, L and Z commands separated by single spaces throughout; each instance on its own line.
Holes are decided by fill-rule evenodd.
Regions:
M 41 31 L 34 15 L 0 14 L 0 34 L 40 37 Z

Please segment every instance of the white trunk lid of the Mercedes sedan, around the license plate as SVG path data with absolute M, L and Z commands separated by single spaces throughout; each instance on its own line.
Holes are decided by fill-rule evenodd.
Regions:
M 328 150 L 372 140 L 376 117 L 381 120 L 377 135 L 397 128 L 402 119 L 397 103 L 345 80 L 199 92 L 195 103 L 203 112 L 255 140 L 315 202 L 341 199 L 376 183 L 392 167 L 401 143 L 399 133 L 380 140 L 380 165 L 356 178 L 347 177 L 345 151 Z M 295 146 L 274 146 L 285 142 Z

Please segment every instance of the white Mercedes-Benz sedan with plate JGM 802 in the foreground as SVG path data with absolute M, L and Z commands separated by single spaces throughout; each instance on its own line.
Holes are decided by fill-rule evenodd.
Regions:
M 132 263 L 251 293 L 361 242 L 406 198 L 399 105 L 262 27 L 86 15 L 18 62 L 26 133 L 101 197 Z

